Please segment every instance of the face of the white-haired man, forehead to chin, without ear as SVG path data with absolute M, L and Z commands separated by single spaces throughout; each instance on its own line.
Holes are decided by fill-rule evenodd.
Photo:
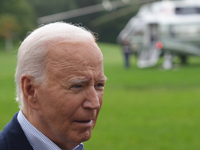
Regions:
M 57 145 L 88 140 L 104 85 L 103 57 L 94 42 L 56 45 L 48 56 L 47 81 L 36 88 L 39 130 Z

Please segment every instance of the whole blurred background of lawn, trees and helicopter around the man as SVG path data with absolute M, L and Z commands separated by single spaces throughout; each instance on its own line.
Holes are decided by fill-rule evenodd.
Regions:
M 1 0 L 0 130 L 19 111 L 17 49 L 42 24 L 98 35 L 108 78 L 85 149 L 199 150 L 199 0 Z

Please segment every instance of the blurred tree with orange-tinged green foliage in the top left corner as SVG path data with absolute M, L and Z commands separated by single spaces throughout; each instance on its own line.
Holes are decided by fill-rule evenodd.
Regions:
M 12 48 L 13 38 L 24 38 L 36 27 L 36 18 L 27 0 L 2 0 L 0 4 L 0 36 L 6 39 L 6 48 Z

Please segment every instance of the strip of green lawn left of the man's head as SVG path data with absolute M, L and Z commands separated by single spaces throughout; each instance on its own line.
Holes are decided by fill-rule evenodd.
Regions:
M 18 111 L 14 82 L 16 55 L 16 52 L 0 50 L 0 130 Z

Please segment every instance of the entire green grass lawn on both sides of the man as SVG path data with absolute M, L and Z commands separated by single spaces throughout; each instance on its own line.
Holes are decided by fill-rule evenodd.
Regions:
M 108 78 L 104 102 L 86 150 L 199 150 L 200 58 L 164 71 L 158 64 L 125 69 L 118 45 L 100 43 Z M 0 51 L 0 130 L 18 111 L 16 53 Z

